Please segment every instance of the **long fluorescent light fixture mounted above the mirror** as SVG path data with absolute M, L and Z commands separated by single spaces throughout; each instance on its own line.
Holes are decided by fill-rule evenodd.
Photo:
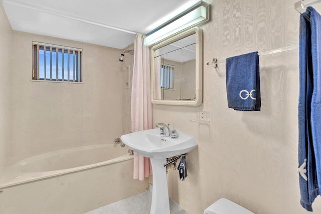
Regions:
M 174 19 L 159 26 L 155 30 L 145 35 L 144 45 L 150 46 L 177 32 L 187 28 L 195 27 L 210 20 L 209 4 L 200 1 L 189 10 L 178 15 Z

